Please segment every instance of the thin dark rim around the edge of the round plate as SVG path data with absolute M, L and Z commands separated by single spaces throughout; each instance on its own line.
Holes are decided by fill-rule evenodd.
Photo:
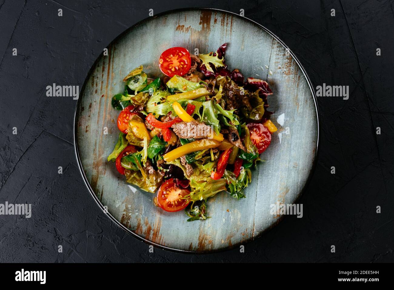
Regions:
M 208 7 L 184 7 L 184 8 L 178 8 L 178 9 L 171 9 L 171 10 L 167 10 L 167 11 L 163 11 L 160 13 L 157 13 L 154 16 L 151 17 L 147 17 L 144 18 L 140 21 L 138 21 L 137 23 L 133 24 L 132 26 L 130 26 L 129 28 L 126 28 L 126 30 L 124 30 L 123 32 L 121 32 L 117 37 L 115 37 L 107 46 L 106 48 L 108 48 L 109 46 L 111 46 L 115 41 L 117 41 L 118 39 L 120 39 L 121 37 L 123 37 L 123 35 L 126 35 L 130 30 L 134 29 L 135 27 L 150 21 L 151 19 L 154 19 L 156 17 L 160 17 L 162 15 L 168 14 L 168 13 L 173 13 L 173 12 L 182 12 L 182 11 L 190 11 L 190 10 L 197 10 L 197 11 L 211 11 L 211 12 L 224 12 L 224 13 L 228 13 L 230 15 L 234 15 L 236 17 L 240 17 L 243 18 L 255 25 L 257 25 L 259 28 L 261 28 L 262 30 L 264 30 L 265 32 L 267 32 L 269 35 L 271 35 L 271 37 L 273 37 L 276 41 L 278 41 L 279 43 L 281 43 L 281 45 L 283 45 L 286 50 L 290 53 L 290 55 L 292 56 L 292 58 L 296 61 L 297 65 L 299 66 L 299 68 L 301 69 L 301 72 L 303 73 L 303 75 L 305 76 L 305 79 L 307 80 L 309 89 L 312 93 L 312 98 L 313 98 L 313 102 L 315 105 L 315 110 L 316 110 L 316 131 L 317 131 L 317 138 L 316 138 L 316 147 L 315 147 L 315 152 L 314 152 L 314 156 L 313 156 L 313 160 L 312 160 L 312 167 L 309 170 L 309 174 L 308 174 L 308 178 L 305 181 L 305 184 L 303 186 L 303 188 L 299 191 L 297 198 L 295 199 L 295 202 L 303 195 L 304 191 L 306 190 L 307 186 L 309 185 L 309 182 L 312 178 L 312 175 L 315 171 L 316 168 L 316 160 L 317 160 L 317 156 L 318 156 L 318 148 L 319 148 L 319 139 L 320 139 L 320 117 L 319 117 L 319 108 L 318 108 L 318 102 L 316 99 L 316 94 L 315 91 L 313 89 L 312 86 L 312 82 L 310 81 L 310 78 L 307 74 L 307 72 L 305 71 L 304 67 L 301 65 L 300 61 L 297 59 L 297 57 L 295 56 L 295 54 L 290 50 L 290 48 L 279 38 L 277 37 L 273 32 L 271 32 L 268 28 L 266 28 L 265 26 L 259 24 L 258 22 L 249 19 L 247 17 L 244 16 L 240 16 L 237 13 L 231 12 L 231 11 L 227 11 L 227 10 L 223 10 L 223 9 L 216 9 L 216 8 L 208 8 Z M 81 87 L 80 92 L 83 92 L 87 82 L 88 82 L 88 78 L 91 75 L 91 73 L 94 71 L 94 68 L 96 67 L 98 61 L 99 61 L 100 57 L 97 57 L 96 60 L 94 61 L 93 65 L 91 66 L 91 68 L 89 69 L 89 71 L 87 72 L 87 75 L 85 77 L 84 83 Z M 224 252 L 224 251 L 228 251 L 230 249 L 234 249 L 235 247 L 238 247 L 238 245 L 241 244 L 247 244 L 249 242 L 252 242 L 258 238 L 260 238 L 263 234 L 265 234 L 266 232 L 268 232 L 269 230 L 273 229 L 276 225 L 278 225 L 278 223 L 280 221 L 282 221 L 282 219 L 284 219 L 285 216 L 280 216 L 277 221 L 275 223 L 273 223 L 270 227 L 264 229 L 263 231 L 261 231 L 258 235 L 256 236 L 252 236 L 251 238 L 248 238 L 245 241 L 242 242 L 238 242 L 234 245 L 231 246 L 227 246 L 224 248 L 220 248 L 220 249 L 213 249 L 213 250 L 198 250 L 198 251 L 188 251 L 188 250 L 182 250 L 182 249 L 176 249 L 176 248 L 172 248 L 172 247 L 167 247 L 165 245 L 160 245 L 157 244 L 155 242 L 152 242 L 150 240 L 147 240 L 141 236 L 139 236 L 138 234 L 136 234 L 135 232 L 131 231 L 130 229 L 128 229 L 125 225 L 123 225 L 120 221 L 118 221 L 115 217 L 112 216 L 112 214 L 110 214 L 102 205 L 102 203 L 99 201 L 99 198 L 97 197 L 96 193 L 94 192 L 93 188 L 91 188 L 87 177 L 85 175 L 85 171 L 83 169 L 82 166 L 82 162 L 81 162 L 81 158 L 79 155 L 79 151 L 78 151 L 78 144 L 76 141 L 76 135 L 77 135 L 77 111 L 78 111 L 78 106 L 80 105 L 80 102 L 82 98 L 79 98 L 78 96 L 78 100 L 76 102 L 76 106 L 75 106 L 75 111 L 74 111 L 74 129 L 73 129 L 73 141 L 74 141 L 74 153 L 75 153 L 75 157 L 76 157 L 76 161 L 78 164 L 78 169 L 82 175 L 82 179 L 84 180 L 85 186 L 87 187 L 88 191 L 90 192 L 91 196 L 93 197 L 93 199 L 96 201 L 97 205 L 99 206 L 99 208 L 104 212 L 104 214 L 106 216 L 108 216 L 118 227 L 120 227 L 121 229 L 123 229 L 125 232 L 127 232 L 128 234 L 130 234 L 132 237 L 136 238 L 137 240 L 141 241 L 141 242 L 145 242 L 146 244 L 149 245 L 154 245 L 155 247 L 158 247 L 159 249 L 163 249 L 166 251 L 171 251 L 171 252 L 175 252 L 175 253 L 185 253 L 185 254 L 210 254 L 210 253 L 219 253 L 219 252 Z

